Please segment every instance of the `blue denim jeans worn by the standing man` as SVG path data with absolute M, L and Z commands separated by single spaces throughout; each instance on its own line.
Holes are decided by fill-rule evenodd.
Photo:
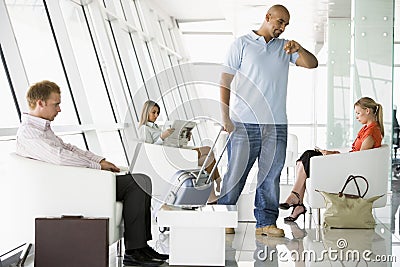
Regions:
M 247 175 L 258 159 L 254 216 L 256 227 L 276 225 L 279 215 L 279 180 L 286 157 L 286 124 L 234 122 L 228 144 L 228 170 L 218 204 L 236 205 Z

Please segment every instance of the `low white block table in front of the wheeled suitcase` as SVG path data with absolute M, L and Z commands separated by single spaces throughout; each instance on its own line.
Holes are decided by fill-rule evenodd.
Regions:
M 170 265 L 225 266 L 225 228 L 237 227 L 238 214 L 234 205 L 163 206 L 157 222 L 170 228 Z

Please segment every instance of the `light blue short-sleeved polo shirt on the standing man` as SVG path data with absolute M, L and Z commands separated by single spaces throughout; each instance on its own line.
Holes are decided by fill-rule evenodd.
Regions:
M 273 38 L 268 43 L 253 31 L 236 39 L 224 62 L 224 72 L 235 75 L 231 85 L 230 116 L 256 124 L 286 124 L 289 62 L 299 54 L 286 54 L 288 42 Z

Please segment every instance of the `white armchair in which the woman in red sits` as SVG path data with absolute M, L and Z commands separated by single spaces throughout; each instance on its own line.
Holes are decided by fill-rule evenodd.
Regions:
M 310 178 L 306 180 L 306 202 L 312 209 L 324 208 L 324 199 L 315 189 L 339 192 L 349 175 L 362 175 L 369 183 L 365 197 L 385 195 L 373 205 L 374 208 L 384 207 L 388 191 L 389 160 L 390 147 L 386 144 L 369 150 L 311 158 Z M 365 187 L 360 188 L 363 189 Z M 346 192 L 357 192 L 354 183 L 347 186 Z

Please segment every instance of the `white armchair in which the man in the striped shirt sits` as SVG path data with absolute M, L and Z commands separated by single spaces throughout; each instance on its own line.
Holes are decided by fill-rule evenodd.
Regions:
M 109 244 L 121 239 L 122 203 L 116 201 L 114 173 L 58 166 L 16 154 L 8 155 L 2 163 L 2 251 L 34 243 L 36 217 L 107 217 Z

